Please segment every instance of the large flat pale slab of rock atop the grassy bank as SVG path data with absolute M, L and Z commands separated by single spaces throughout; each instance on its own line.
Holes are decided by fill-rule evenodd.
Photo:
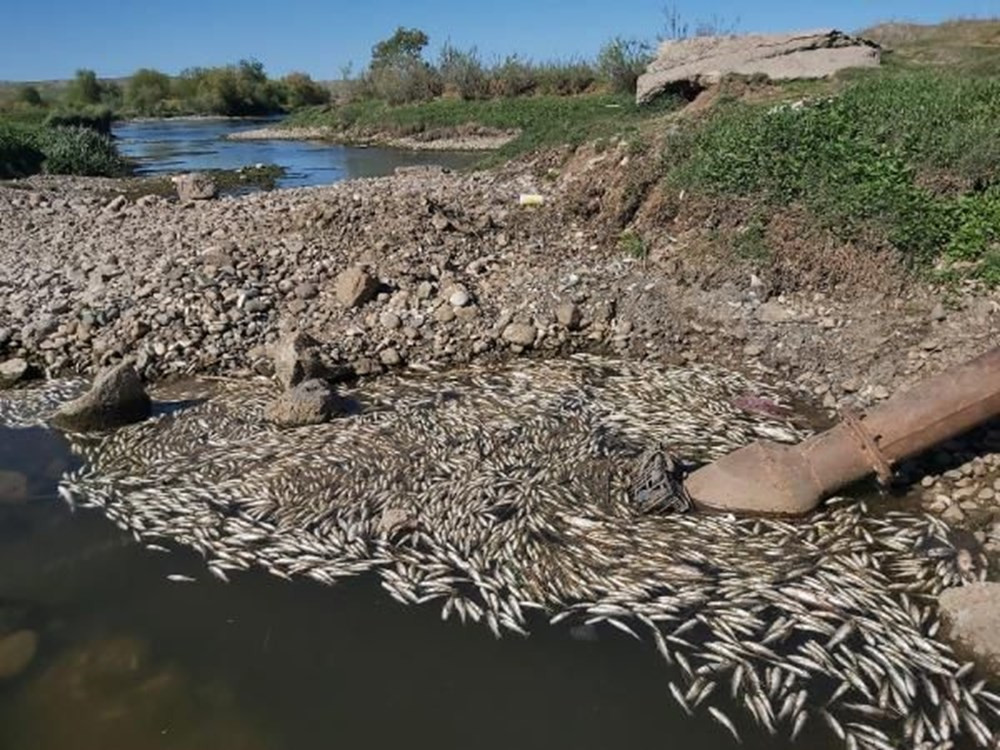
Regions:
M 835 29 L 786 34 L 699 36 L 660 45 L 639 76 L 640 104 L 671 90 L 699 90 L 730 74 L 765 75 L 775 81 L 826 78 L 845 68 L 877 67 L 881 48 Z

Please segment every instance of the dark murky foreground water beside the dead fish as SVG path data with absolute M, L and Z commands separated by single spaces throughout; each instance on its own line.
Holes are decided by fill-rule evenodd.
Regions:
M 71 461 L 53 433 L 0 427 L 0 469 L 25 472 L 35 498 L 0 503 L 0 643 L 39 636 L 27 668 L 0 679 L 4 750 L 735 747 L 668 700 L 676 676 L 648 645 L 541 624 L 497 641 L 367 577 L 226 585 L 193 553 L 71 512 L 52 474 Z M 178 573 L 199 580 L 166 580 Z M 800 743 L 837 747 L 818 726 Z

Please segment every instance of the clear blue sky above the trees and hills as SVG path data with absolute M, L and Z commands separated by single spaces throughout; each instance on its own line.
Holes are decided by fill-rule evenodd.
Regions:
M 368 60 L 372 44 L 398 25 L 417 26 L 436 49 L 450 39 L 487 59 L 591 56 L 610 36 L 655 37 L 663 0 L 7 0 L 0 13 L 0 80 L 67 78 L 78 67 L 124 76 L 139 67 L 177 73 L 256 57 L 269 73 L 339 76 Z M 738 20 L 740 31 L 884 20 L 930 22 L 1000 15 L 1000 0 L 679 0 L 690 22 Z

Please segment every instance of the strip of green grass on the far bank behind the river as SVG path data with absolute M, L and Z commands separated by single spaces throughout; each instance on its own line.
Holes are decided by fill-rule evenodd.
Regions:
M 303 110 L 284 124 L 332 127 L 347 139 L 447 133 L 469 126 L 520 131 L 518 138 L 494 157 L 504 159 L 545 146 L 576 145 L 634 133 L 643 120 L 677 106 L 677 101 L 665 99 L 652 107 L 638 107 L 632 97 L 616 94 L 482 101 L 437 99 L 395 107 L 379 101 L 360 101 Z

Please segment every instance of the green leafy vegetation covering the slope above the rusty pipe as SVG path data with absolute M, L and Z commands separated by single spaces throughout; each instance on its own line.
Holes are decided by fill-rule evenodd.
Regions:
M 914 267 L 993 279 L 1000 243 L 1000 79 L 865 76 L 799 109 L 734 103 L 674 144 L 670 179 L 720 197 L 804 204 L 851 241 Z

